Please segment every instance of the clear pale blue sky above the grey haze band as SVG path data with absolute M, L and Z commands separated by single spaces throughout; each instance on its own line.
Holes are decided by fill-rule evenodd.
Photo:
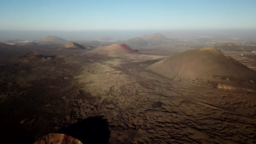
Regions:
M 256 29 L 256 1 L 4 0 L 0 30 Z

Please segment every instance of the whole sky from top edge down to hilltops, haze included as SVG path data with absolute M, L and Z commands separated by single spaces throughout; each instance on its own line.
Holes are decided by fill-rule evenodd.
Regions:
M 168 38 L 232 35 L 256 37 L 256 1 L 20 1 L 0 4 L 0 41 L 130 39 L 161 33 Z M 206 37 L 205 37 L 206 38 Z

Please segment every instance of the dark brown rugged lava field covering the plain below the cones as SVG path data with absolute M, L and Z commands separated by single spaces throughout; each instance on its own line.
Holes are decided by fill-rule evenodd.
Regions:
M 168 78 L 148 69 L 166 56 L 104 49 L 114 55 L 56 48 L 2 62 L 2 143 L 54 133 L 83 143 L 256 142 L 255 91 Z

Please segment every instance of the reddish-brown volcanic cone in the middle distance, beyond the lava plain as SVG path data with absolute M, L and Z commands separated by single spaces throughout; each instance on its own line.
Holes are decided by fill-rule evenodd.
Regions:
M 127 54 L 132 54 L 136 53 L 134 50 L 131 49 L 126 44 L 113 44 L 109 46 L 99 46 L 96 47 L 96 49 L 91 50 L 89 53 L 95 53 L 95 54 L 100 54 L 100 55 L 127 55 Z

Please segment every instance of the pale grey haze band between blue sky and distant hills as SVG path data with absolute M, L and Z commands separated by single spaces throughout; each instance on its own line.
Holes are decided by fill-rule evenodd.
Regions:
M 130 39 L 135 37 L 141 37 L 145 34 L 161 33 L 168 38 L 189 38 L 190 36 L 196 38 L 207 35 L 225 35 L 225 36 L 237 36 L 242 38 L 256 39 L 256 30 L 219 30 L 219 31 L 206 31 L 206 30 L 190 30 L 190 31 L 167 31 L 167 30 L 144 30 L 144 31 L 118 31 L 118 30 L 98 30 L 98 31 L 0 31 L 0 41 L 10 39 L 22 39 L 22 40 L 40 40 L 46 35 L 55 35 L 66 40 L 91 40 L 102 37 L 110 37 L 113 39 Z M 195 37 L 196 36 L 196 37 Z

